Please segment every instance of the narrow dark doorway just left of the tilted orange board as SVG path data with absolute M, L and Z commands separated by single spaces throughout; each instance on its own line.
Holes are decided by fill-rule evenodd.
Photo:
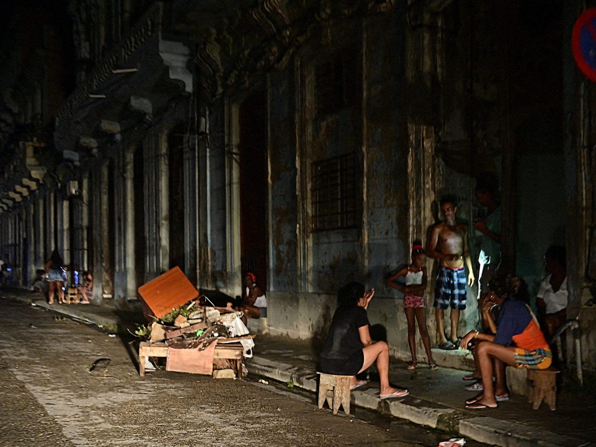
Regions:
M 143 147 L 139 144 L 133 154 L 133 189 L 135 209 L 135 283 L 138 289 L 145 284 L 145 173 Z

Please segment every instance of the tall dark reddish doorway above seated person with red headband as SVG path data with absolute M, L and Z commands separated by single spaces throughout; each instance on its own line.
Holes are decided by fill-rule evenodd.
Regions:
M 257 275 L 260 287 L 267 287 L 268 167 L 266 97 L 259 91 L 238 110 L 240 131 L 240 240 L 243 273 Z

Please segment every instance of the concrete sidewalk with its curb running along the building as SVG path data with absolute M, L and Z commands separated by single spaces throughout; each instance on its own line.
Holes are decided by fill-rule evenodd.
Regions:
M 39 300 L 39 294 L 20 291 L 2 291 L 0 296 L 30 302 L 41 308 L 58 312 L 70 318 L 86 321 L 116 330 L 116 327 L 134 327 L 143 322 L 138 310 L 119 311 L 94 305 L 48 305 Z M 311 340 L 294 340 L 284 337 L 259 335 L 252 359 L 247 359 L 250 373 L 281 382 L 293 381 L 294 386 L 316 392 L 316 352 L 318 345 Z M 445 353 L 446 360 L 461 362 L 465 352 Z M 413 423 L 458 434 L 468 439 L 503 447 L 584 447 L 596 446 L 596 424 L 593 414 L 596 402 L 578 392 L 561 390 L 557 396 L 557 410 L 550 411 L 545 403 L 537 410 L 526 398 L 511 395 L 499 408 L 483 411 L 464 409 L 464 401 L 473 396 L 466 392 L 461 380 L 465 373 L 453 368 L 431 371 L 419 364 L 414 371 L 406 370 L 403 362 L 393 361 L 390 380 L 407 388 L 409 396 L 381 401 L 378 383 L 371 382 L 352 392 L 353 405 L 374 409 L 404 418 Z

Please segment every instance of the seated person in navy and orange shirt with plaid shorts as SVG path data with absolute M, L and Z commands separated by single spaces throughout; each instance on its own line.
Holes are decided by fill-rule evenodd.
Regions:
M 476 356 L 482 375 L 483 391 L 465 401 L 465 408 L 496 408 L 493 387 L 493 361 L 516 368 L 544 370 L 552 362 L 551 349 L 540 330 L 536 317 L 522 300 L 516 299 L 521 281 L 513 275 L 497 275 L 489 284 L 485 305 L 499 305 L 496 334 L 470 331 L 460 347 L 468 349 L 477 340 Z

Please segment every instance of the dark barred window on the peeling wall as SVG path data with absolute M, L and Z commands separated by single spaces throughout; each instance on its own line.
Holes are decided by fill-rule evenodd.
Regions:
M 312 163 L 313 231 L 356 226 L 356 156 Z

